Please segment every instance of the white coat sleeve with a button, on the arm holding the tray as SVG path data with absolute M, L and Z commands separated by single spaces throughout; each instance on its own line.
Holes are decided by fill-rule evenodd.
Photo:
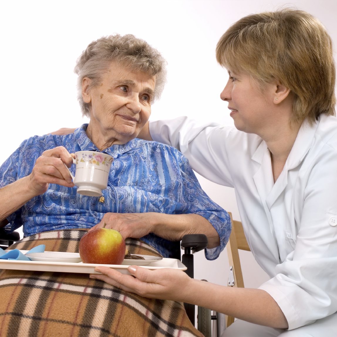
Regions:
M 337 141 L 323 145 L 301 170 L 306 174 L 297 181 L 304 193 L 294 194 L 303 198 L 303 210 L 294 210 L 302 211 L 295 249 L 260 286 L 280 306 L 289 330 L 337 311 Z

